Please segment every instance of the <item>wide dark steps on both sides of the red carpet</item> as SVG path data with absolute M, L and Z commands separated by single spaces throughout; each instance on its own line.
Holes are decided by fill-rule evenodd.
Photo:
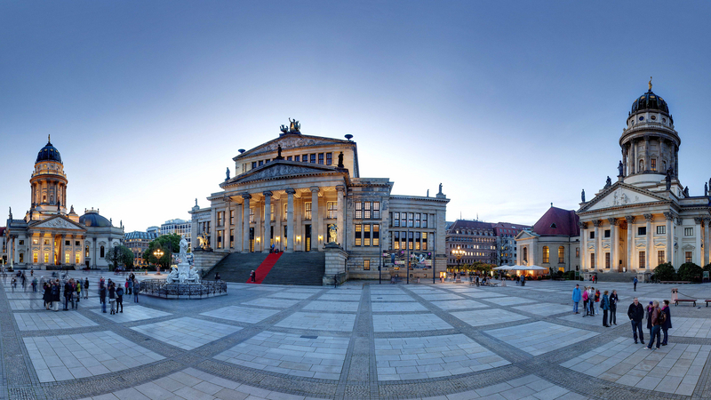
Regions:
M 223 281 L 244 284 L 249 280 L 252 269 L 257 271 L 268 259 L 268 255 L 262 252 L 233 252 L 210 270 L 208 279 L 213 279 L 215 273 L 220 273 Z M 268 270 L 267 276 L 263 278 L 262 284 L 321 286 L 326 264 L 324 252 L 284 252 L 279 255 L 274 267 Z

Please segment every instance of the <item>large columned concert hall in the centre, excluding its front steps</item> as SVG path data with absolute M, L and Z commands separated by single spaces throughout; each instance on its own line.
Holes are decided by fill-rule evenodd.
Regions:
M 434 197 L 392 195 L 387 178 L 360 177 L 351 137 L 304 135 L 292 121 L 276 139 L 240 150 L 236 176 L 228 169 L 210 206 L 196 201 L 190 211 L 192 236 L 214 252 L 323 252 L 338 244 L 351 277 L 377 278 L 382 252 L 397 259 L 424 252 L 413 277 L 432 277 L 433 265 L 443 270 L 449 199 L 441 186 Z M 404 276 L 399 268 L 392 270 Z

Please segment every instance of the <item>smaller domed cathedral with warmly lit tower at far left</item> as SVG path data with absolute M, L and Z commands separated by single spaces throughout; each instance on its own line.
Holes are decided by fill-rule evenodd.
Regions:
M 79 216 L 74 206 L 67 208 L 68 178 L 51 138 L 37 153 L 29 184 L 29 210 L 15 220 L 11 208 L 4 231 L 8 263 L 13 268 L 108 268 L 105 255 L 121 243 L 123 224 L 114 227 L 99 210 Z

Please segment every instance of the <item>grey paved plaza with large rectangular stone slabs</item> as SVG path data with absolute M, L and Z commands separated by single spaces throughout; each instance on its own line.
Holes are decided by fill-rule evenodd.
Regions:
M 572 313 L 571 282 L 229 284 L 207 300 L 125 296 L 112 316 L 88 276 L 90 298 L 57 312 L 4 281 L 0 399 L 711 398 L 711 308 L 672 306 L 659 350 L 632 340 L 629 302 L 669 285 L 595 284 L 619 292 L 605 328 Z

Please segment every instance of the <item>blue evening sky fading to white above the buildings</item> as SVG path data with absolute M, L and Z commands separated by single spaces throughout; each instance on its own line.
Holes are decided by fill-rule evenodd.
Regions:
M 0 210 L 47 135 L 68 204 L 126 232 L 189 219 L 239 148 L 298 119 L 447 220 L 532 225 L 617 175 L 633 100 L 667 100 L 691 196 L 711 177 L 709 2 L 0 0 Z

